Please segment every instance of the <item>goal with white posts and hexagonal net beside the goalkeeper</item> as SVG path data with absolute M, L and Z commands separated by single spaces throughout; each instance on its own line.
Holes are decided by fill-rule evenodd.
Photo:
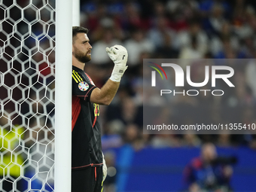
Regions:
M 71 191 L 79 4 L 0 0 L 0 191 Z

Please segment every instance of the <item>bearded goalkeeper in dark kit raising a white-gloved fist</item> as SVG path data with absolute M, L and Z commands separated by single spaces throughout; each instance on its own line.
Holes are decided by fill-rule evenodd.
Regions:
M 88 29 L 72 28 L 72 192 L 102 191 L 107 167 L 102 154 L 99 105 L 109 105 L 127 69 L 127 51 L 120 45 L 106 47 L 114 62 L 111 77 L 99 89 L 84 72 L 91 59 Z

